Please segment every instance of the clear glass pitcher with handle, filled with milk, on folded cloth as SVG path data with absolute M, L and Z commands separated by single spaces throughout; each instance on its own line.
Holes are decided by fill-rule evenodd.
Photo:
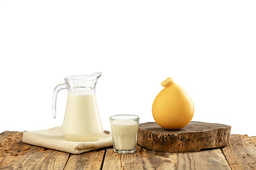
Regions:
M 65 77 L 65 83 L 53 91 L 53 118 L 56 117 L 58 91 L 68 89 L 62 132 L 66 140 L 89 142 L 98 140 L 103 133 L 95 91 L 101 72 L 90 75 Z

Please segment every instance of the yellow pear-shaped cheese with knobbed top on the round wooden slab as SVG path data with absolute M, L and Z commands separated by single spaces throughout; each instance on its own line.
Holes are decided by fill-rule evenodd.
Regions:
M 154 120 L 167 130 L 184 128 L 193 118 L 193 101 L 171 77 L 161 85 L 164 89 L 156 96 L 152 106 Z

